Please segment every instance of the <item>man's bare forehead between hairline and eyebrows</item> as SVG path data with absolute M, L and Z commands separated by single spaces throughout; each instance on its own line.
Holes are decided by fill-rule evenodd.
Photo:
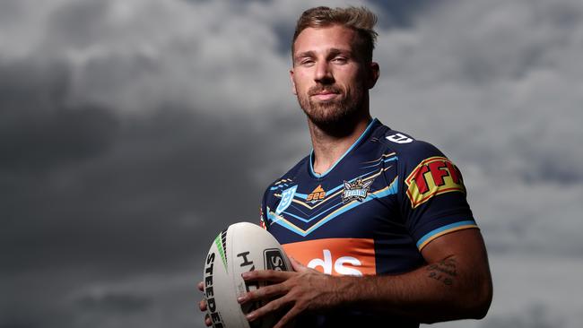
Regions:
M 354 30 L 340 25 L 321 28 L 309 27 L 302 30 L 293 43 L 293 55 L 296 56 L 308 51 L 327 51 L 333 48 L 352 51 L 355 37 L 356 32 Z

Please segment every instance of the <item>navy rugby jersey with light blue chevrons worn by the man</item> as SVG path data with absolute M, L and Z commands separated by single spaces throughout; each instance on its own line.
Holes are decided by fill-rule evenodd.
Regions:
M 313 152 L 267 188 L 261 224 L 288 255 L 320 272 L 409 272 L 424 264 L 421 250 L 431 240 L 477 228 L 456 165 L 377 119 L 332 168 L 317 174 L 312 164 Z M 320 315 L 318 326 L 352 319 L 379 323 L 344 313 Z

